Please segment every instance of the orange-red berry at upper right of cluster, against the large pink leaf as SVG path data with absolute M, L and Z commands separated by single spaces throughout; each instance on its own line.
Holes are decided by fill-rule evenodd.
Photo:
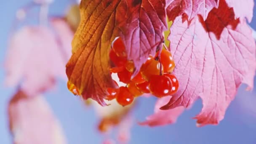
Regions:
M 159 51 L 156 53 L 155 57 L 158 57 Z M 163 64 L 163 71 L 166 72 L 173 72 L 173 69 L 175 67 L 175 63 L 173 61 L 173 57 L 171 55 L 171 52 L 163 49 L 160 54 L 160 61 L 161 64 Z

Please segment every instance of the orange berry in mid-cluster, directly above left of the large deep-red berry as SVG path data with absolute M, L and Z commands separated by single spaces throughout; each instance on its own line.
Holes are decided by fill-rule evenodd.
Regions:
M 149 77 L 151 77 L 152 75 L 159 75 L 160 65 L 160 62 L 155 59 L 150 59 L 145 64 L 143 64 L 141 66 L 141 75 L 144 78 L 144 80 L 149 81 Z

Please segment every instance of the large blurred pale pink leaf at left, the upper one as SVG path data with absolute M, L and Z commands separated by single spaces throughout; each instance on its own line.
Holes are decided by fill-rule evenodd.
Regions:
M 5 69 L 6 84 L 18 86 L 28 96 L 52 88 L 56 77 L 65 77 L 65 63 L 56 37 L 47 27 L 23 27 L 10 40 Z

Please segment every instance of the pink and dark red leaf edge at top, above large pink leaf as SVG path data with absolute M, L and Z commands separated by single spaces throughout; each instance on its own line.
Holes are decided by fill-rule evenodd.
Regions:
M 205 20 L 208 13 L 219 5 L 219 0 L 167 0 L 167 16 L 173 21 L 177 16 L 184 16 L 189 21 L 198 14 Z

